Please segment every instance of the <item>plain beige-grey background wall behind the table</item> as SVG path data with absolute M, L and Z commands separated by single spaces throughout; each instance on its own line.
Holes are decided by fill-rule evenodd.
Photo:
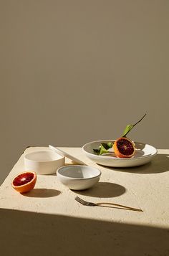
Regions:
M 26 146 L 168 148 L 168 0 L 0 0 L 1 173 Z

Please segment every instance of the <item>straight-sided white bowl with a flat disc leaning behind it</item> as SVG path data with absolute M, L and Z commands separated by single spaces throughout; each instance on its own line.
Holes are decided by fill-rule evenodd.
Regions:
M 26 171 L 37 174 L 56 174 L 57 169 L 64 166 L 65 158 L 54 151 L 34 151 L 24 156 Z

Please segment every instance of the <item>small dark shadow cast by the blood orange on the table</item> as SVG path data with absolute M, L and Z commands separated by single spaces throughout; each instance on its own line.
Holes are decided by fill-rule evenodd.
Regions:
M 28 197 L 54 197 L 59 196 L 61 191 L 57 189 L 32 189 L 28 193 L 21 194 L 22 196 Z

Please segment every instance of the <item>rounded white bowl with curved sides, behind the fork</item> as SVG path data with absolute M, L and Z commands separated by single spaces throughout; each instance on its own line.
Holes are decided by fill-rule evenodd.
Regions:
M 57 170 L 59 181 L 69 189 L 84 190 L 100 180 L 101 171 L 91 166 L 70 165 Z

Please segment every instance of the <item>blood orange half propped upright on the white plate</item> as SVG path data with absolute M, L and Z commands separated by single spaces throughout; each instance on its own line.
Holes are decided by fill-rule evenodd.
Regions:
M 115 155 L 120 158 L 130 158 L 135 154 L 135 144 L 129 138 L 117 138 L 114 143 Z

